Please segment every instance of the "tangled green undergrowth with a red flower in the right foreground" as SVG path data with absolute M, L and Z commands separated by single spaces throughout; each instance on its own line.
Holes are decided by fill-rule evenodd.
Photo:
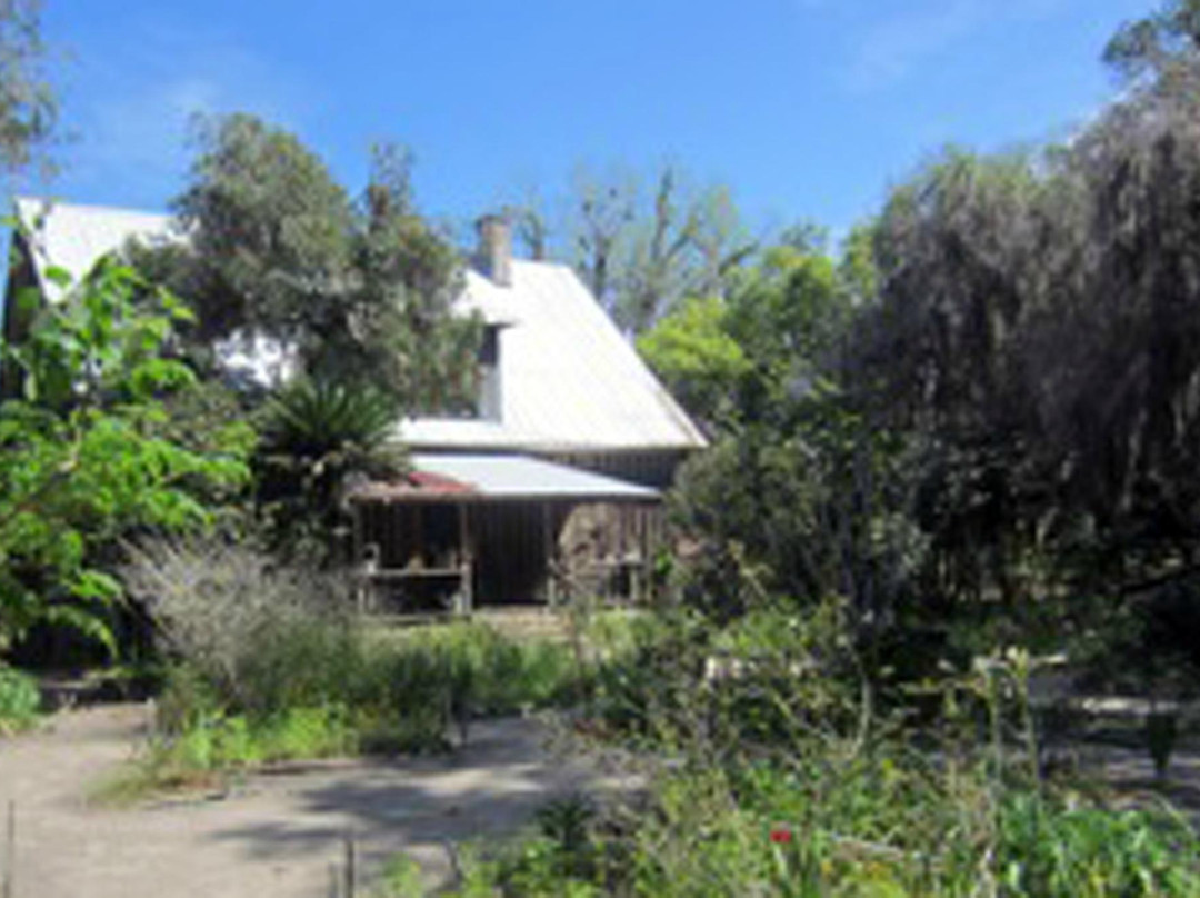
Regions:
M 715 629 L 667 613 L 632 640 L 576 729 L 632 747 L 644 789 L 464 850 L 448 894 L 1200 894 L 1183 816 L 1046 776 L 1022 652 L 892 684 L 899 702 L 865 682 L 838 603 Z

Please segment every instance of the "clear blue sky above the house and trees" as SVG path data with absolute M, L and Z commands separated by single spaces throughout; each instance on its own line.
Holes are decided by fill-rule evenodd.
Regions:
M 76 139 L 50 186 L 161 209 L 196 112 L 299 133 L 348 187 L 372 142 L 469 218 L 574 168 L 682 164 L 757 224 L 844 231 L 947 142 L 1062 138 L 1148 0 L 46 0 Z

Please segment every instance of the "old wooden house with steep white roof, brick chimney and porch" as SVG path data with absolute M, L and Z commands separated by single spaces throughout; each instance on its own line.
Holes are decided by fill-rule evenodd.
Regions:
M 37 199 L 17 212 L 30 237 L 16 238 L 10 301 L 29 283 L 53 301 L 52 263 L 78 276 L 130 238 L 184 239 L 163 215 Z M 476 415 L 400 421 L 412 474 L 349 495 L 370 601 L 636 592 L 661 539 L 661 490 L 704 437 L 570 268 L 514 258 L 496 216 L 479 238 L 458 299 L 485 322 Z

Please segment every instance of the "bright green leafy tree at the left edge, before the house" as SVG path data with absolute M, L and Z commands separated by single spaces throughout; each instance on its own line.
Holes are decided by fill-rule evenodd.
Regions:
M 0 406 L 0 647 L 47 622 L 115 648 L 102 612 L 120 588 L 100 555 L 134 528 L 203 527 L 211 515 L 200 497 L 245 483 L 245 426 L 228 424 L 210 453 L 162 436 L 162 397 L 194 383 L 162 357 L 190 312 L 161 291 L 150 304 L 146 291 L 132 269 L 104 261 L 62 304 L 41 309 L 25 340 L 2 346 L 24 395 Z

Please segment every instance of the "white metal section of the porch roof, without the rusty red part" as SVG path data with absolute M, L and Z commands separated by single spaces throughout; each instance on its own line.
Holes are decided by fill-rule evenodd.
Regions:
M 469 492 L 449 495 L 456 498 L 476 496 L 484 499 L 626 499 L 654 501 L 656 490 L 628 484 L 589 471 L 554 465 L 523 455 L 433 455 L 416 453 L 418 471 L 449 478 Z

